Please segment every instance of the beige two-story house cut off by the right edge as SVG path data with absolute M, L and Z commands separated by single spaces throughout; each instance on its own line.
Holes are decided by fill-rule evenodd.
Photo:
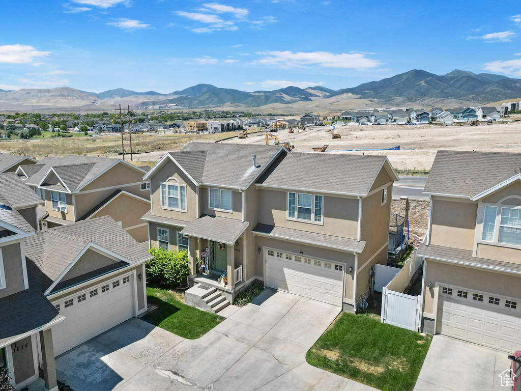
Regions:
M 423 330 L 521 350 L 521 154 L 439 151 L 424 192 Z

